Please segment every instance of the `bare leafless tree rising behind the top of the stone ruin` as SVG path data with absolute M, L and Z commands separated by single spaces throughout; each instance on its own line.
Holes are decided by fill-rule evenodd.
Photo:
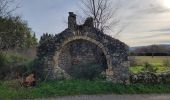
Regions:
M 117 12 L 119 3 L 112 0 L 81 0 L 83 13 L 93 17 L 94 27 L 101 31 L 111 30 L 119 23 Z

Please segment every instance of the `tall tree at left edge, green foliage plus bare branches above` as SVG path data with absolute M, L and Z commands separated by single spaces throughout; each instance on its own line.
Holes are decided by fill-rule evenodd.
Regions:
M 17 8 L 18 0 L 0 0 L 0 50 L 28 48 L 37 44 L 27 22 L 12 15 Z

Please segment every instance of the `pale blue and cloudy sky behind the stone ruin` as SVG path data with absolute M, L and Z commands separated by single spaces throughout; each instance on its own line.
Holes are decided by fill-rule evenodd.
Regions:
M 117 30 L 123 30 L 118 35 L 116 31 L 106 34 L 131 47 L 170 44 L 170 0 L 113 0 L 112 6 L 117 4 Z M 21 0 L 19 5 L 16 14 L 27 21 L 38 38 L 67 28 L 68 12 L 82 14 L 80 0 Z

